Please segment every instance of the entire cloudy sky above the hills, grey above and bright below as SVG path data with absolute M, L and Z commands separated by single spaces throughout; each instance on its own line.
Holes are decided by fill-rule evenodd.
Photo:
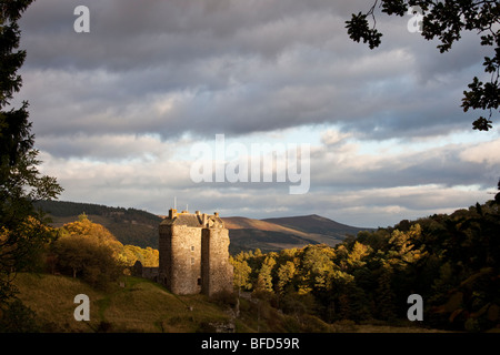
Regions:
M 74 30 L 78 6 L 89 32 Z M 370 7 L 36 1 L 20 21 L 16 100 L 30 103 L 40 171 L 64 189 L 59 200 L 157 214 L 176 201 L 221 216 L 377 227 L 491 200 L 500 123 L 473 131 L 481 112 L 460 108 L 472 78 L 487 79 L 478 36 L 441 54 L 409 31 L 411 14 L 378 12 L 382 43 L 370 50 L 344 28 Z M 277 172 L 264 181 L 252 164 L 272 152 Z

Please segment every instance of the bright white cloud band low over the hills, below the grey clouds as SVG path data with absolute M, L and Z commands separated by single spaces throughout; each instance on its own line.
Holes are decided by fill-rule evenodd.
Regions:
M 144 152 L 158 154 L 147 158 L 124 152 L 128 160 L 121 158 L 119 149 L 120 159 L 114 160 L 102 160 L 91 152 L 86 153 L 84 160 L 43 153 L 43 172 L 58 176 L 67 190 L 64 200 L 91 199 L 96 203 L 132 205 L 164 214 L 176 196 L 179 205 L 217 210 L 223 215 L 317 213 L 361 226 L 389 225 L 402 219 L 467 207 L 488 200 L 487 191 L 496 182 L 488 166 L 461 158 L 462 152 L 473 151 L 471 143 L 450 143 L 431 151 L 373 146 L 372 153 L 366 153 L 356 139 L 339 141 L 331 129 L 322 135 L 333 136 L 333 144 L 326 144 L 323 139 L 311 148 L 311 186 L 302 195 L 290 195 L 290 181 L 279 183 L 276 176 L 271 183 L 194 183 L 190 171 L 197 156 L 179 154 L 180 146 L 189 152 L 194 142 L 189 140 L 166 143 L 159 138 L 138 138 L 131 151 L 141 152 L 140 145 L 144 144 Z M 276 139 L 280 139 L 279 134 Z M 76 142 L 77 146 L 82 144 L 78 139 Z M 96 152 L 101 151 L 98 141 L 96 144 Z M 491 144 L 494 148 L 496 141 Z M 120 140 L 110 143 L 119 145 Z

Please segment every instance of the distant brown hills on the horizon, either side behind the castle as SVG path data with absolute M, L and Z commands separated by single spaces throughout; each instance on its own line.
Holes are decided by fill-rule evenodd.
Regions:
M 123 244 L 158 248 L 158 225 L 163 216 L 136 209 L 67 201 L 40 201 L 37 206 L 51 216 L 54 226 L 76 221 L 86 213 L 92 222 L 106 226 Z M 270 252 L 320 243 L 333 246 L 347 235 L 371 230 L 338 223 L 317 214 L 263 220 L 230 216 L 222 220 L 229 230 L 231 254 L 256 248 Z

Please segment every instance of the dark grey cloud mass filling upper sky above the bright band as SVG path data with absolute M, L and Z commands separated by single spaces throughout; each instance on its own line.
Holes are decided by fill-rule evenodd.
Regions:
M 90 9 L 90 33 L 72 30 L 77 4 Z M 469 125 L 470 115 L 457 108 L 470 81 L 467 69 L 481 59 L 471 51 L 477 38 L 467 37 L 446 57 L 407 31 L 409 17 L 379 14 L 383 42 L 370 51 L 344 29 L 350 13 L 364 7 L 327 0 L 34 2 L 22 20 L 24 70 L 43 73 L 40 87 L 51 75 L 49 92 L 30 100 L 37 131 L 169 139 L 330 122 L 360 138 L 387 139 Z M 154 109 L 168 100 L 169 110 Z

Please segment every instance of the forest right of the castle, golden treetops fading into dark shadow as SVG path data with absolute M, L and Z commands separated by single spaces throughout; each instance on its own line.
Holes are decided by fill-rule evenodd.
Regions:
M 422 326 L 500 327 L 498 201 L 360 232 L 334 247 L 256 250 L 231 262 L 239 290 L 284 313 L 391 324 L 407 318 L 408 296 L 419 294 Z

